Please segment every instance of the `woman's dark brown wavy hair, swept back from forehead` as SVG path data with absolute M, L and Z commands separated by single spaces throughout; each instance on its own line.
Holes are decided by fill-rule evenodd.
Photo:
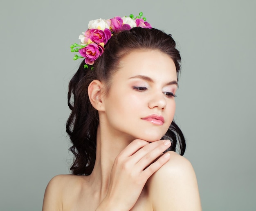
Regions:
M 81 62 L 78 71 L 69 83 L 68 106 L 71 109 L 67 120 L 66 131 L 70 136 L 74 154 L 74 162 L 70 170 L 75 175 L 90 175 L 94 168 L 96 158 L 96 134 L 99 124 L 98 111 L 92 107 L 88 96 L 88 86 L 92 80 L 97 79 L 111 85 L 113 73 L 118 70 L 121 58 L 137 49 L 152 49 L 166 53 L 175 63 L 177 76 L 180 73 L 180 53 L 175 48 L 176 44 L 170 34 L 158 29 L 144 29 L 135 27 L 129 31 L 113 34 L 105 50 L 93 64 L 94 69 L 84 69 L 85 62 Z M 176 151 L 180 145 L 180 155 L 185 152 L 186 144 L 184 135 L 173 121 L 163 137 L 171 140 L 168 150 Z

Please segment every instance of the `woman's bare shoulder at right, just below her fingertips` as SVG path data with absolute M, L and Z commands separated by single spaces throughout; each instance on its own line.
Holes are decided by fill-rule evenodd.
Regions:
M 149 196 L 156 211 L 200 211 L 195 171 L 186 158 L 173 151 L 170 159 L 148 181 Z

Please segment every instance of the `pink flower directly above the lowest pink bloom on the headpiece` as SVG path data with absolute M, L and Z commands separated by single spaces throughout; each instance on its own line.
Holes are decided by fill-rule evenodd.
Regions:
M 84 33 L 84 40 L 83 43 L 87 43 L 88 39 L 92 40 L 97 44 L 103 42 L 106 44 L 108 40 L 111 38 L 111 31 L 109 29 L 104 29 L 104 31 L 100 29 L 88 29 Z

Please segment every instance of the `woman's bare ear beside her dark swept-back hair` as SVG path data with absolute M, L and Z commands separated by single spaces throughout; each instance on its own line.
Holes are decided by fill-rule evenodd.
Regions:
M 103 111 L 103 84 L 99 80 L 93 80 L 88 86 L 88 96 L 94 109 Z

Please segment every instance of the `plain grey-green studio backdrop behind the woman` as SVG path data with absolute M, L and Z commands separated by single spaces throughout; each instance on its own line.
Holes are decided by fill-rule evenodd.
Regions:
M 140 11 L 182 55 L 176 122 L 204 211 L 256 210 L 254 0 L 0 2 L 0 211 L 41 210 L 69 173 L 67 84 L 89 20 Z

